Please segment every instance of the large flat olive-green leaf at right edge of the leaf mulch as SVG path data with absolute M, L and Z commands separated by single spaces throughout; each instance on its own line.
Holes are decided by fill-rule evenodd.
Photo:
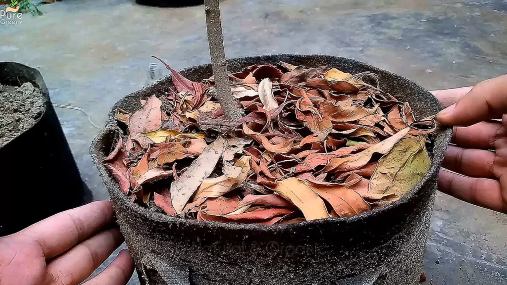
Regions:
M 368 192 L 403 196 L 422 179 L 430 159 L 425 147 L 426 136 L 406 137 L 394 145 L 377 164 Z

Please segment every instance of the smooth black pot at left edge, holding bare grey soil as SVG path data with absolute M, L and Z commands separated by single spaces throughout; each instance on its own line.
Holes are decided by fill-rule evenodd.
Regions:
M 41 89 L 45 111 L 31 128 L 0 148 L 0 236 L 80 206 L 90 197 L 41 74 L 20 63 L 0 62 L 0 83 L 26 82 Z

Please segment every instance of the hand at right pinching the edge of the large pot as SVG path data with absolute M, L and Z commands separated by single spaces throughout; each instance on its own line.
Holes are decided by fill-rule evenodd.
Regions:
M 454 127 L 442 166 L 459 173 L 442 169 L 439 190 L 507 213 L 507 75 L 433 94 L 447 107 L 437 120 Z

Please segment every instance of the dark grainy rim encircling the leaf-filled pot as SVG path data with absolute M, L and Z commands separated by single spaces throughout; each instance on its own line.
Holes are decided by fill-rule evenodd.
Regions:
M 411 83 L 411 84 L 419 87 L 421 90 L 425 91 L 426 92 L 425 95 L 428 97 L 429 100 L 434 100 L 440 105 L 440 102 L 438 101 L 438 99 L 436 97 L 434 97 L 428 90 L 426 90 L 422 86 L 414 83 L 413 81 L 406 79 L 400 75 L 388 72 L 387 70 L 384 70 L 384 69 L 372 66 L 368 63 L 364 63 L 364 62 L 357 61 L 354 59 L 349 59 L 349 58 L 339 57 L 339 56 L 318 55 L 318 54 L 312 54 L 312 55 L 276 54 L 276 55 L 267 55 L 267 56 L 272 56 L 272 57 L 291 56 L 295 59 L 303 59 L 303 58 L 318 56 L 318 57 L 325 57 L 325 58 L 334 59 L 334 60 L 337 60 L 337 59 L 338 60 L 348 60 L 354 64 L 362 65 L 370 70 L 375 70 L 376 72 L 380 71 L 380 72 L 384 73 L 386 76 L 394 77 L 397 80 L 405 80 L 408 83 Z M 258 61 L 258 60 L 263 60 L 263 56 L 260 55 L 260 56 L 237 57 L 237 58 L 228 59 L 228 61 L 229 60 L 238 60 L 238 59 L 252 60 L 252 61 L 257 60 Z M 206 66 L 210 66 L 210 63 L 187 67 L 187 68 L 181 69 L 179 71 L 181 73 L 185 73 L 187 71 L 191 71 L 191 70 L 194 70 L 199 67 L 204 68 Z M 145 87 L 139 89 L 138 91 L 135 91 L 135 92 L 121 98 L 120 100 L 118 100 L 118 102 L 124 100 L 127 97 L 131 97 L 131 96 L 137 97 L 137 96 L 139 96 L 139 94 L 138 94 L 139 92 L 141 92 L 143 90 L 150 89 L 154 85 L 161 84 L 162 82 L 166 82 L 171 79 L 172 79 L 172 76 L 168 75 L 162 79 L 159 79 L 159 80 L 153 82 L 152 84 L 150 84 L 148 86 L 145 86 Z M 429 97 L 428 95 L 431 95 L 431 97 Z M 396 97 L 395 95 L 393 95 L 393 96 Z M 400 200 L 397 200 L 389 205 L 386 205 L 386 206 L 383 206 L 383 207 L 380 207 L 377 209 L 373 209 L 370 211 L 366 211 L 366 212 L 360 213 L 360 214 L 352 216 L 352 217 L 345 217 L 345 218 L 330 217 L 330 218 L 325 218 L 325 219 L 299 222 L 299 223 L 295 223 L 295 224 L 266 226 L 266 225 L 258 225 L 258 224 L 239 224 L 239 223 L 234 223 L 234 222 L 223 223 L 223 222 L 216 222 L 216 221 L 198 221 L 195 219 L 182 219 L 182 218 L 178 218 L 178 217 L 172 217 L 172 216 L 166 215 L 165 213 L 150 211 L 148 208 L 144 208 L 136 203 L 131 202 L 130 199 L 128 198 L 128 196 L 119 189 L 118 182 L 112 177 L 112 175 L 107 171 L 107 169 L 105 169 L 105 167 L 101 164 L 101 161 L 103 160 L 103 158 L 105 156 L 100 154 L 99 151 L 95 151 L 95 149 L 96 150 L 103 149 L 103 145 L 100 143 L 100 141 L 105 139 L 108 136 L 108 134 L 110 134 L 111 132 L 116 132 L 115 137 L 116 137 L 116 135 L 119 135 L 119 134 L 121 135 L 121 133 L 122 133 L 121 129 L 117 125 L 116 120 L 114 119 L 114 109 L 116 108 L 116 105 L 118 104 L 118 102 L 111 108 L 110 113 L 109 113 L 109 119 L 107 120 L 104 129 L 102 129 L 100 131 L 100 133 L 95 137 L 95 139 L 92 141 L 92 144 L 90 147 L 90 152 L 93 157 L 94 163 L 96 164 L 97 168 L 99 168 L 99 172 L 102 172 L 102 173 L 100 173 L 102 176 L 102 179 L 104 181 L 110 180 L 115 185 L 115 187 L 111 187 L 113 189 L 110 189 L 110 187 L 107 187 L 107 185 L 106 185 L 106 187 L 110 191 L 111 196 L 114 197 L 115 199 L 119 199 L 120 203 L 127 204 L 128 207 L 133 212 L 135 212 L 135 215 L 139 215 L 139 217 L 142 216 L 146 219 L 155 220 L 157 222 L 162 222 L 162 223 L 178 223 L 178 224 L 185 224 L 186 226 L 193 226 L 193 227 L 209 227 L 209 228 L 215 228 L 215 229 L 229 229 L 229 230 L 230 229 L 238 229 L 238 230 L 239 229 L 255 229 L 257 231 L 272 232 L 272 231 L 280 231 L 280 230 L 287 230 L 287 229 L 297 229 L 297 228 L 302 228 L 302 227 L 307 227 L 307 226 L 325 225 L 328 223 L 352 223 L 352 222 L 356 222 L 356 221 L 363 221 L 365 219 L 368 219 L 371 216 L 377 215 L 377 213 L 388 211 L 394 207 L 400 206 L 402 204 L 405 204 L 405 203 L 415 199 L 415 196 L 417 196 L 419 194 L 422 187 L 428 182 L 430 177 L 433 174 L 435 174 L 437 171 L 439 171 L 440 165 L 441 165 L 443 158 L 444 158 L 445 149 L 447 148 L 447 145 L 449 144 L 449 142 L 451 140 L 451 136 L 452 136 L 452 128 L 447 127 L 447 126 L 442 126 L 440 124 L 438 125 L 436 132 L 434 132 L 435 137 L 433 138 L 433 142 L 436 140 L 441 140 L 442 144 L 440 145 L 440 147 L 443 148 L 443 150 L 436 151 L 437 145 L 434 146 L 434 149 L 432 152 L 433 157 L 431 159 L 430 167 L 429 167 L 428 171 L 426 172 L 426 174 L 423 176 L 423 178 L 406 195 L 401 197 Z M 442 105 L 440 105 L 440 108 L 441 108 L 441 110 L 443 109 Z M 106 174 L 103 175 L 103 173 L 106 173 Z M 104 177 L 105 175 L 106 175 L 106 177 Z M 437 175 L 438 175 L 438 173 L 437 173 Z

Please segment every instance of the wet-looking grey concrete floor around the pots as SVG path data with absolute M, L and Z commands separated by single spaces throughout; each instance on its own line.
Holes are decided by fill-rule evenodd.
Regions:
M 0 61 L 37 67 L 54 103 L 79 106 L 98 125 L 146 84 L 151 55 L 176 69 L 209 62 L 202 6 L 67 0 L 42 9 L 42 17 L 0 25 Z M 228 57 L 345 56 L 428 89 L 507 73 L 505 0 L 226 0 L 222 13 Z M 99 130 L 80 112 L 57 113 L 94 198 L 107 199 L 88 155 Z M 439 195 L 424 270 L 425 284 L 507 284 L 507 217 Z

